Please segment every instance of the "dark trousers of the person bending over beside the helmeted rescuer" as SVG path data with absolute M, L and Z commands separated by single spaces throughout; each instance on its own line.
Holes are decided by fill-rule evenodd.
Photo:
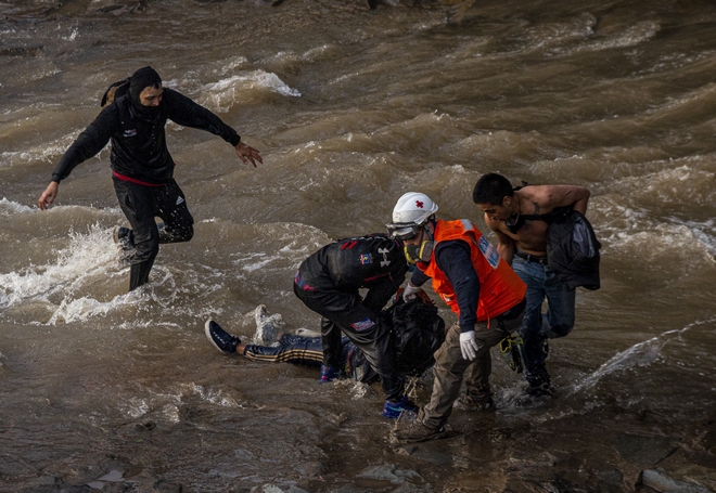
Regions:
M 379 316 L 379 310 L 369 308 L 358 293 L 340 290 L 305 290 L 294 283 L 296 296 L 322 316 L 321 339 L 323 364 L 342 367 L 341 336 L 343 334 L 362 351 L 368 363 L 381 379 L 385 399 L 399 401 L 405 381 L 398 375 L 391 346 L 391 330 Z M 369 295 L 366 297 L 367 299 Z

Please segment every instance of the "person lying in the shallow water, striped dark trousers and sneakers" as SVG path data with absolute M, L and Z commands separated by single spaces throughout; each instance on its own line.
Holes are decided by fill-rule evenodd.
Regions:
M 393 330 L 398 372 L 404 376 L 422 375 L 433 363 L 433 353 L 445 339 L 445 322 L 437 308 L 423 294 L 404 302 L 401 297 L 383 310 L 382 316 Z M 320 336 L 282 333 L 280 315 L 268 315 L 266 307 L 256 307 L 256 336 L 263 345 L 242 342 L 216 321 L 207 320 L 204 333 L 212 345 L 225 354 L 239 354 L 252 361 L 294 363 L 321 367 L 323 342 Z M 305 333 L 304 333 L 305 334 Z M 366 355 L 347 337 L 341 340 L 341 376 L 370 384 L 379 380 Z

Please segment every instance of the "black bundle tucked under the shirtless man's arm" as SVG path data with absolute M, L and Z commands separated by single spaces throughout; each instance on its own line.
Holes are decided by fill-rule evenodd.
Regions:
M 547 262 L 568 287 L 594 290 L 600 287 L 599 249 L 587 218 L 571 207 L 550 212 L 547 230 Z

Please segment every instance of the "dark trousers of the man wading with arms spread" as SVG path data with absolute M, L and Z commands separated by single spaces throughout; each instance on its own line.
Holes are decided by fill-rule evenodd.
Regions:
M 129 290 L 149 281 L 161 243 L 189 242 L 194 235 L 194 218 L 189 213 L 184 194 L 176 181 L 162 186 L 145 186 L 113 178 L 119 207 L 131 225 L 135 254 L 129 271 Z M 157 228 L 154 218 L 164 221 Z

